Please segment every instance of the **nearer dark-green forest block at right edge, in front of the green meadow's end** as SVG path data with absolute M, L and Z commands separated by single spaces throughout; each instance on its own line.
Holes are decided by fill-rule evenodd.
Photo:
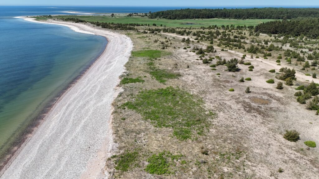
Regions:
M 319 18 L 270 21 L 257 25 L 255 31 L 267 34 L 305 35 L 308 38 L 317 38 L 319 36 Z

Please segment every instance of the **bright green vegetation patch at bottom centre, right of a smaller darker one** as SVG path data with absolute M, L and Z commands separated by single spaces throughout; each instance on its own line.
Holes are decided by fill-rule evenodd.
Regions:
M 163 151 L 159 154 L 153 154 L 147 159 L 149 164 L 146 166 L 145 171 L 150 174 L 172 174 L 171 166 L 175 165 L 175 160 L 178 160 L 182 155 L 173 155 L 168 151 Z

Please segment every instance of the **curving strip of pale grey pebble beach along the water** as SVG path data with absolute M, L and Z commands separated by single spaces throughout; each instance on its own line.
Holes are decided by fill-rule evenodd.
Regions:
M 34 18 L 23 18 L 39 22 Z M 80 23 L 41 21 L 101 35 L 108 45 L 101 56 L 56 102 L 44 121 L 26 140 L 1 179 L 107 178 L 103 168 L 114 149 L 111 103 L 133 44 L 129 37 Z M 27 34 L 26 34 L 27 35 Z

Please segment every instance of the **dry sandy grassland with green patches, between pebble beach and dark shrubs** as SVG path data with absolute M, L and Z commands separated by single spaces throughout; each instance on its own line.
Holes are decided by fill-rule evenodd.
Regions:
M 113 103 L 118 148 L 105 167 L 113 178 L 318 177 L 318 147 L 303 143 L 319 143 L 318 116 L 296 102 L 296 86 L 276 89 L 280 80 L 268 72 L 276 63 L 248 54 L 244 60 L 253 71 L 244 64 L 238 72 L 223 65 L 212 70 L 217 59 L 203 64 L 190 52 L 205 43 L 185 44 L 169 34 L 121 33 L 130 36 L 134 52 Z M 207 57 L 240 59 L 243 53 L 215 49 Z M 241 77 L 251 81 L 240 82 Z M 298 80 L 295 84 L 305 82 Z M 300 140 L 285 140 L 286 129 L 297 130 Z

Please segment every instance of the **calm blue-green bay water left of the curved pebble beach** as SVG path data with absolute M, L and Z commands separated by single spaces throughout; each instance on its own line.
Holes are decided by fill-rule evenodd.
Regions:
M 92 64 L 107 41 L 64 26 L 12 18 L 21 13 L 6 16 L 1 7 L 0 11 L 1 156 L 43 108 Z

